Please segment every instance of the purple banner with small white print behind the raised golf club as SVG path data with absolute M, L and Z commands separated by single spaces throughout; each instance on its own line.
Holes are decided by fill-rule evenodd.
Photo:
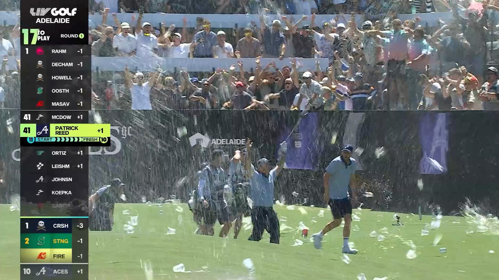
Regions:
M 318 124 L 319 115 L 317 113 L 308 113 L 303 117 L 294 130 L 294 132 L 287 139 L 287 154 L 286 154 L 286 168 L 291 169 L 314 169 L 318 160 Z M 286 140 L 293 129 L 285 126 L 281 128 L 279 141 L 277 142 L 277 150 L 279 143 Z

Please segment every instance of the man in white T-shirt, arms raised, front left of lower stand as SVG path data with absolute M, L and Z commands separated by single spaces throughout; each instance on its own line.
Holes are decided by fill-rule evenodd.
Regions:
M 132 95 L 132 110 L 153 110 L 151 106 L 151 87 L 156 82 L 158 73 L 151 73 L 147 83 L 144 83 L 144 74 L 137 72 L 134 76 L 136 83 L 134 83 L 128 66 L 124 70 L 125 86 L 130 89 Z

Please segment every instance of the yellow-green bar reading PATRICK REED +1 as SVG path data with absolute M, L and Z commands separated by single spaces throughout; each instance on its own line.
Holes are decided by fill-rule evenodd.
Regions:
M 111 137 L 111 125 L 50 124 L 50 137 Z

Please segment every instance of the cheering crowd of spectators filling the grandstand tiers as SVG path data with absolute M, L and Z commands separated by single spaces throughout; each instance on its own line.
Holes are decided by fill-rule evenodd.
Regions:
M 128 67 L 94 72 L 94 108 L 499 110 L 499 63 L 494 62 L 499 57 L 495 49 L 499 34 L 494 29 L 499 0 L 102 0 L 89 4 L 102 14 L 102 24 L 89 26 L 92 56 L 234 60 L 229 69 L 215 63 L 211 73 L 164 71 L 159 66 L 149 72 L 137 67 L 133 73 Z M 417 16 L 444 10 L 454 17 L 447 22 L 440 19 L 438 26 L 421 24 Z M 131 22 L 120 22 L 117 12 L 137 14 Z M 165 13 L 160 26 L 147 21 L 148 14 L 156 12 Z M 206 15 L 197 18 L 196 27 L 188 27 L 186 18 L 184 26 L 177 27 L 168 23 L 167 13 L 260 16 L 259 22 L 235 28 L 212 28 Z M 270 13 L 287 15 L 267 20 Z M 414 16 L 402 21 L 399 13 Z M 331 14 L 331 19 L 318 22 L 317 14 Z M 106 24 L 109 16 L 113 25 Z M 18 26 L 9 31 L 10 41 L 3 39 L 1 45 L 3 53 L 13 54 L 20 47 Z M 241 58 L 253 58 L 256 67 L 248 71 Z M 260 58 L 271 62 L 267 59 L 262 64 Z M 321 67 L 317 62 L 314 69 L 304 69 L 301 58 L 327 59 L 329 65 Z M 284 59 L 289 65 L 277 68 L 275 61 Z M 2 77 L 13 76 L 3 72 L 7 73 Z

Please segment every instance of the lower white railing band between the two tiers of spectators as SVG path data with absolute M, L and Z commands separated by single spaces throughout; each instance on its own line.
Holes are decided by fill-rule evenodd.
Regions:
M 15 59 L 17 57 L 10 57 L 8 59 L 8 67 L 10 70 L 16 69 Z M 222 68 L 229 70 L 231 65 L 237 64 L 237 58 L 138 58 L 138 57 L 92 57 L 92 70 L 96 70 L 97 67 L 101 71 L 122 71 L 125 66 L 128 66 L 130 71 L 153 71 L 158 65 L 161 69 L 166 71 L 180 71 L 186 69 L 189 72 L 211 72 L 213 69 Z M 254 58 L 241 58 L 239 59 L 243 62 L 243 68 L 245 71 L 253 70 L 256 67 Z M 260 64 L 265 67 L 271 61 L 275 61 L 275 66 L 279 69 L 282 66 L 291 65 L 291 58 L 284 58 L 283 60 L 273 59 L 273 58 L 261 58 Z M 304 71 L 315 71 L 316 61 L 323 71 L 328 66 L 329 60 L 327 58 L 297 58 L 296 66 L 300 72 Z M 239 66 L 235 71 L 239 71 Z

